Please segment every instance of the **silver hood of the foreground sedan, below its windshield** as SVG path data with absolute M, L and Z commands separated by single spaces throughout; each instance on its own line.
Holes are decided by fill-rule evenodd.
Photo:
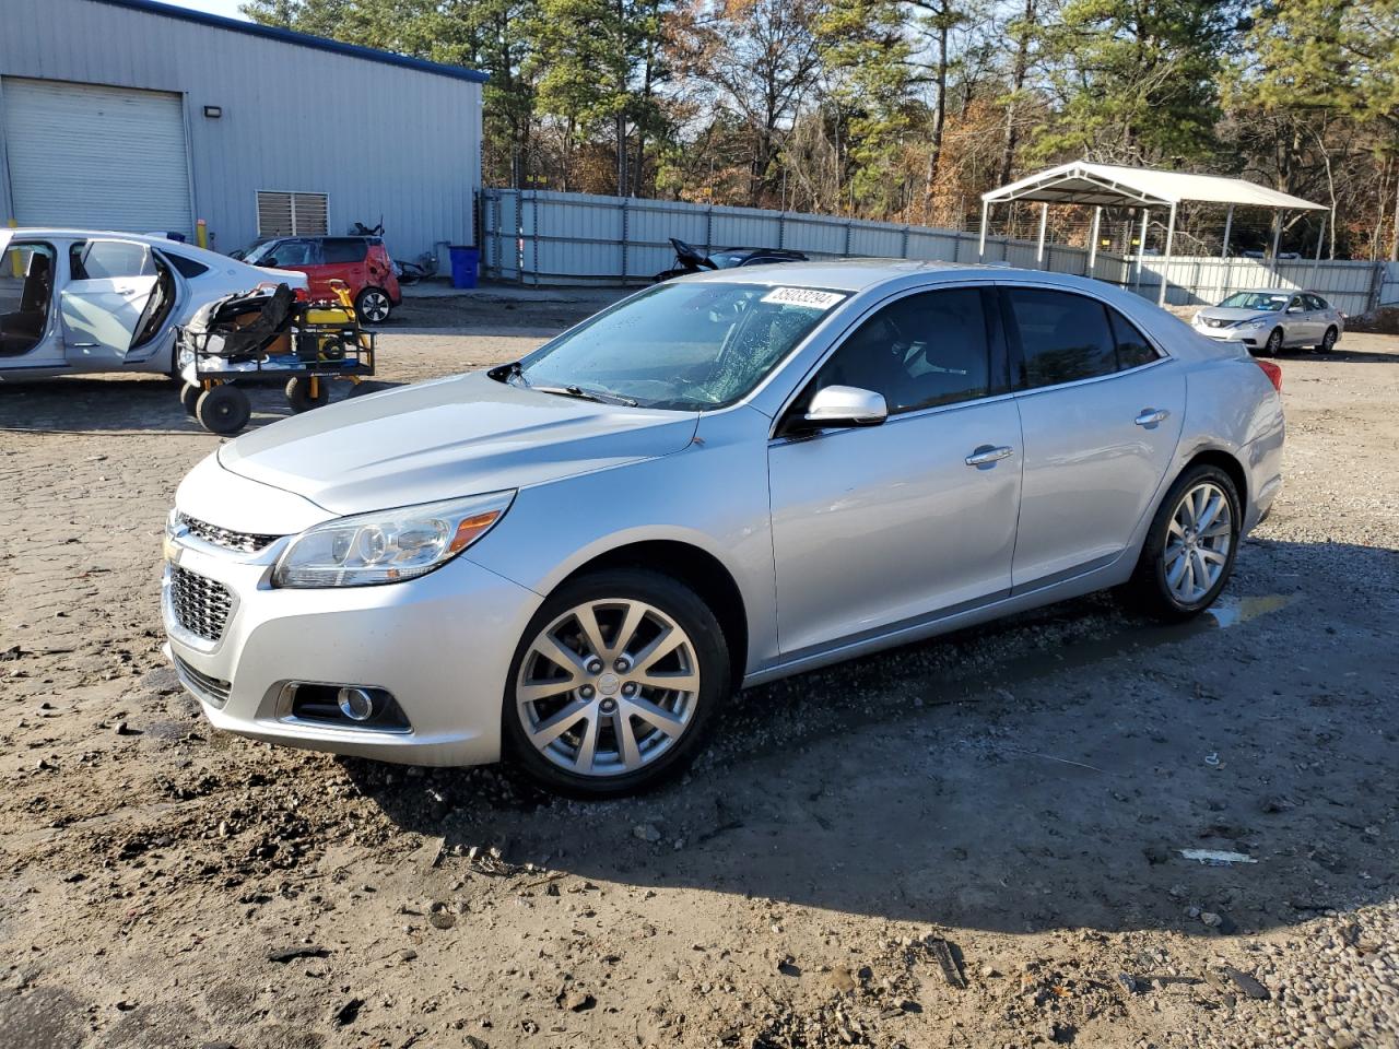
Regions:
M 333 513 L 360 513 L 670 455 L 690 445 L 698 420 L 474 372 L 294 415 L 224 445 L 218 460 Z

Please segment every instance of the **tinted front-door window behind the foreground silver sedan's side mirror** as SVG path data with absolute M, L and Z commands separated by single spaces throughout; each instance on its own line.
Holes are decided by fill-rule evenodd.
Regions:
M 883 394 L 891 415 L 985 397 L 992 380 L 981 291 L 928 291 L 884 306 L 821 365 L 810 393 L 825 386 Z

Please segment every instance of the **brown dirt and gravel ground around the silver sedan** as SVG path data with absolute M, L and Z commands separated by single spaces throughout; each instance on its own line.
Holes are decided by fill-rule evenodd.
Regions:
M 586 309 L 410 305 L 382 378 Z M 1399 338 L 1281 365 L 1216 614 L 1098 596 L 750 690 L 604 804 L 213 732 L 157 597 L 218 438 L 155 379 L 0 386 L 0 1046 L 1393 1049 Z

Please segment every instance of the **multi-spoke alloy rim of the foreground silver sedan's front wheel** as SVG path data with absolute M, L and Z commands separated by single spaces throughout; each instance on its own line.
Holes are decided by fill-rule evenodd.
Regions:
M 555 618 L 530 642 L 515 683 L 525 738 L 582 776 L 656 761 L 686 733 L 698 697 L 690 636 L 632 599 L 586 601 Z

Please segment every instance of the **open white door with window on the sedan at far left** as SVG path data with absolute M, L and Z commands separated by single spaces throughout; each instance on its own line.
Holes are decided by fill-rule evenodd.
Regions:
M 125 361 L 158 281 L 148 245 L 106 238 L 74 243 L 59 298 L 67 357 Z

